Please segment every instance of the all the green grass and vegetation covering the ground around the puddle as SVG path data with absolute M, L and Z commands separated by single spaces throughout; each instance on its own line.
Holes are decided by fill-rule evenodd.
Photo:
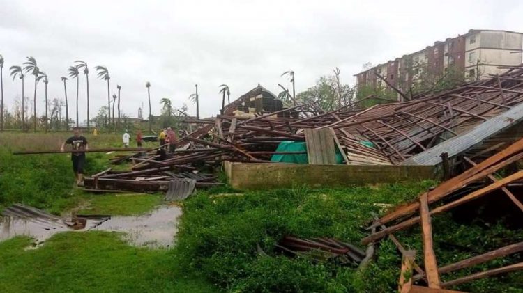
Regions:
M 79 207 L 82 214 L 132 215 L 160 204 L 160 195 L 94 195 L 73 188 L 67 155 L 10 155 L 12 150 L 34 149 L 29 146 L 38 141 L 58 142 L 63 134 L 38 136 L 0 134 L 0 208 L 22 202 L 55 214 Z M 116 135 L 96 139 L 99 147 L 119 144 Z M 105 154 L 88 154 L 88 158 L 89 173 L 107 167 Z M 25 249 L 31 244 L 27 237 L 0 242 L 0 292 L 395 292 L 401 258 L 389 240 L 381 242 L 376 260 L 364 271 L 308 258 L 289 259 L 278 255 L 274 244 L 283 235 L 336 237 L 359 244 L 371 212 L 381 212 L 384 204 L 413 200 L 434 184 L 198 191 L 180 204 L 183 216 L 174 248 L 137 248 L 109 232 L 61 233 L 33 250 Z M 432 225 L 438 231 L 434 249 L 441 265 L 523 239 L 523 231 L 506 228 L 502 217 L 485 223 L 441 214 L 434 216 Z M 419 228 L 395 235 L 407 249 L 423 251 Z M 268 256 L 259 254 L 257 246 Z M 521 258 L 513 255 L 442 278 L 450 280 Z M 523 273 L 453 289 L 523 292 Z

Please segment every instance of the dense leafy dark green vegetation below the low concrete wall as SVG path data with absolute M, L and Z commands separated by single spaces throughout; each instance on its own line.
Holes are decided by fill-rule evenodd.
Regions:
M 434 182 L 387 184 L 349 189 L 291 189 L 248 192 L 243 196 L 209 196 L 199 193 L 184 202 L 176 246 L 176 268 L 199 272 L 229 292 L 393 292 L 400 274 L 401 257 L 390 240 L 377 250 L 377 260 L 365 271 L 332 263 L 314 264 L 308 258 L 289 259 L 274 252 L 283 235 L 335 237 L 359 244 L 361 229 L 377 204 L 395 205 L 413 200 Z M 225 190 L 211 191 L 222 193 Z M 500 219 L 501 220 L 501 219 Z M 521 241 L 522 230 L 481 221 L 457 223 L 450 214 L 432 221 L 440 264 L 449 264 Z M 408 249 L 423 251 L 420 230 L 396 234 Z M 519 240 L 518 240 L 519 239 Z M 268 255 L 257 253 L 259 245 Z M 467 247 L 465 246 L 467 245 Z M 458 247 L 458 248 L 457 248 Z M 363 247 L 362 247 L 363 248 Z M 494 261 L 473 270 L 507 262 Z M 444 280 L 456 278 L 447 274 Z M 523 273 L 513 273 L 462 285 L 467 292 L 521 292 Z

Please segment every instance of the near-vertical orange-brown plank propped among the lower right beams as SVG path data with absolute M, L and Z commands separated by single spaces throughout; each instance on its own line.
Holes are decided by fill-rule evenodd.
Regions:
M 420 196 L 420 222 L 423 234 L 423 255 L 425 257 L 425 274 L 430 288 L 441 288 L 439 284 L 438 265 L 432 247 L 432 225 L 427 193 Z

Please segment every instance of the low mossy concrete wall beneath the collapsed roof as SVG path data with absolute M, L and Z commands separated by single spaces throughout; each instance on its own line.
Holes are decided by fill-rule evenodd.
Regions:
M 346 187 L 409 180 L 437 179 L 433 166 L 356 166 L 311 164 L 245 164 L 225 162 L 235 189 Z

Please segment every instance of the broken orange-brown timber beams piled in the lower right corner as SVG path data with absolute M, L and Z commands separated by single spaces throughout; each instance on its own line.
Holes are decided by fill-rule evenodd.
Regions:
M 372 234 L 365 237 L 362 240 L 362 244 L 374 244 L 380 239 L 388 237 L 397 246 L 398 251 L 403 255 L 402 271 L 400 274 L 400 292 L 413 292 L 411 290 L 422 292 L 420 287 L 413 285 L 414 282 L 423 282 L 427 284 L 429 288 L 440 289 L 510 271 L 523 270 L 523 262 L 519 262 L 442 282 L 440 279 L 441 274 L 447 274 L 451 271 L 473 267 L 490 260 L 503 258 L 506 255 L 519 253 L 523 251 L 523 242 L 506 245 L 494 251 L 476 255 L 453 264 L 438 266 L 437 255 L 435 255 L 432 247 L 431 225 L 432 216 L 448 212 L 450 209 L 469 203 L 472 200 L 486 197 L 494 191 L 504 193 L 504 196 L 508 197 L 515 207 L 517 207 L 517 212 L 523 212 L 523 204 L 520 199 L 515 196 L 513 191 L 511 191 L 514 184 L 520 184 L 520 182 L 522 182 L 523 171 L 514 171 L 510 174 L 510 172 L 505 169 L 503 174 L 510 175 L 501 177 L 496 174 L 496 176 L 494 176 L 496 172 L 501 171 L 501 169 L 511 164 L 515 164 L 522 158 L 523 139 L 478 164 L 468 157 L 464 157 L 464 161 L 467 161 L 471 166 L 467 171 L 439 184 L 435 189 L 421 194 L 415 203 L 396 207 L 392 212 L 388 212 L 384 216 L 381 216 L 381 218 L 376 219 L 369 228 L 372 230 Z M 499 202 L 499 198 L 492 194 L 488 200 L 492 200 L 492 205 Z M 492 205 L 487 205 L 487 208 L 492 207 Z M 424 269 L 414 261 L 416 251 L 407 251 L 393 235 L 394 232 L 405 230 L 414 225 L 418 225 L 418 223 L 421 225 L 422 231 Z M 413 269 L 416 271 L 415 274 L 412 274 Z M 412 277 L 409 278 L 408 276 Z M 413 289 L 413 286 L 416 288 Z

